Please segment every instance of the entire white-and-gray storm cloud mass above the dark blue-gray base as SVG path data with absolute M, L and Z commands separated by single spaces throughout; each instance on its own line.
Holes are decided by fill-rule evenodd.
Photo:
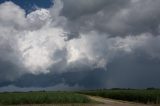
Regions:
M 0 79 L 86 66 L 107 70 L 114 58 L 136 52 L 159 58 L 158 4 L 159 0 L 55 0 L 49 9 L 26 14 L 12 2 L 2 3 L 0 63 L 12 68 L 0 65 Z

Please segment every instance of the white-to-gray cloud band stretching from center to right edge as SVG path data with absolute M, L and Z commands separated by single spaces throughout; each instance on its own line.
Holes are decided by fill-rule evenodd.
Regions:
M 159 45 L 160 36 L 151 33 L 140 35 L 128 35 L 122 37 L 99 36 L 97 32 L 81 34 L 79 39 L 72 39 L 68 42 L 68 63 L 82 61 L 84 64 L 94 68 L 106 68 L 116 56 L 144 53 L 148 57 L 160 58 Z

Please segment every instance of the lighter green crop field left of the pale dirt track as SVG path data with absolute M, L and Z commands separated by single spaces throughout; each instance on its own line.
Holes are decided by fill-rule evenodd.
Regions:
M 84 95 L 71 92 L 26 92 L 26 93 L 0 93 L 0 104 L 65 104 L 90 103 L 91 100 Z

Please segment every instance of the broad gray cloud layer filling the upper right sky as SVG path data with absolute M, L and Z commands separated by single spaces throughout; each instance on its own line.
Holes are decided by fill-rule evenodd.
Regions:
M 85 2 L 85 3 L 84 3 Z M 70 38 L 96 30 L 110 36 L 159 33 L 159 0 L 65 0 L 62 15 L 69 19 Z

